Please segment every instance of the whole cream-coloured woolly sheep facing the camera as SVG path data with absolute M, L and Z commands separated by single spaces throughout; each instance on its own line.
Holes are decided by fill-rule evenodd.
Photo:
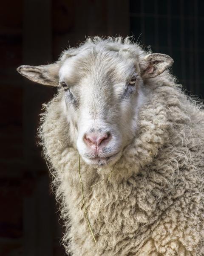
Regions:
M 59 88 L 39 134 L 67 253 L 204 256 L 203 104 L 176 84 L 172 64 L 128 37 L 94 37 L 54 64 L 17 69 Z

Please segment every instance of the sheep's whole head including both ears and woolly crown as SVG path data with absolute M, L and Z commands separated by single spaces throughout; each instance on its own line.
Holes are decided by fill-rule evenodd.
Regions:
M 32 81 L 61 88 L 73 146 L 86 163 L 102 166 L 115 163 L 135 136 L 143 82 L 172 63 L 169 56 L 147 54 L 127 39 L 94 38 L 63 52 L 57 63 L 17 70 Z

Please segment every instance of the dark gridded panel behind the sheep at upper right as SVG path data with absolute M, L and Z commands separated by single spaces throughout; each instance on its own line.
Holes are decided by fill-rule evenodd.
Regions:
M 130 0 L 130 33 L 145 49 L 170 55 L 178 83 L 201 98 L 203 27 L 203 0 Z

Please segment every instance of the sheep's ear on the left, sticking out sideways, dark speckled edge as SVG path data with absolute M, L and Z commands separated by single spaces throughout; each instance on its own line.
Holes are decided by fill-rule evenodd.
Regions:
M 59 63 L 42 66 L 20 66 L 17 71 L 22 75 L 39 84 L 58 86 Z

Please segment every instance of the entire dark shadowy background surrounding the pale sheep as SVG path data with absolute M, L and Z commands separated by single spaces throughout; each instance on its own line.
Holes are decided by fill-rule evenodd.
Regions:
M 42 102 L 55 89 L 16 68 L 56 61 L 85 36 L 134 35 L 175 60 L 188 93 L 204 97 L 203 0 L 7 0 L 0 5 L 0 255 L 63 256 L 63 227 L 37 147 Z M 142 33 L 142 34 L 141 34 Z

